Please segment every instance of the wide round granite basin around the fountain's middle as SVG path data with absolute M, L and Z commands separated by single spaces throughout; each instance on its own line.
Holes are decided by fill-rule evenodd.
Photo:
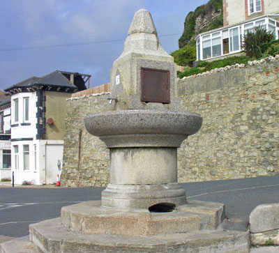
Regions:
M 179 147 L 202 126 L 202 117 L 190 112 L 123 110 L 90 114 L 84 126 L 107 148 Z

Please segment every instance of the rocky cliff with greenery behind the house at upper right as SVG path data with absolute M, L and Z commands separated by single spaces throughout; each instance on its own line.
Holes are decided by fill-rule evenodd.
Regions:
M 223 26 L 223 0 L 210 0 L 186 16 L 179 48 L 184 47 L 197 34 Z

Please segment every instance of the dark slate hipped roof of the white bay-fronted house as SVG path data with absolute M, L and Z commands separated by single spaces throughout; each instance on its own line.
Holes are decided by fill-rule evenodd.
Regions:
M 73 73 L 77 75 L 78 73 Z M 29 88 L 31 86 L 56 86 L 56 87 L 65 87 L 71 89 L 77 89 L 75 84 L 71 83 L 59 70 L 51 72 L 43 77 L 29 77 L 28 79 L 14 84 L 13 86 L 8 87 L 4 91 L 10 91 L 12 89 L 19 88 Z

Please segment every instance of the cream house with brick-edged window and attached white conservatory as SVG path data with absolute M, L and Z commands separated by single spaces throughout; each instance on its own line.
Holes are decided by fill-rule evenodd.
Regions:
M 197 61 L 222 59 L 241 52 L 243 36 L 264 26 L 279 39 L 278 0 L 223 0 L 225 26 L 200 33 L 196 38 Z

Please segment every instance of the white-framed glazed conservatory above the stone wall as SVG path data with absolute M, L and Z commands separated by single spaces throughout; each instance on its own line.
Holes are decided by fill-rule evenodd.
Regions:
M 224 26 L 219 29 L 200 33 L 196 38 L 197 61 L 229 56 L 241 52 L 243 36 L 253 31 L 255 26 L 262 26 L 279 39 L 279 15 L 266 15 L 247 22 Z

